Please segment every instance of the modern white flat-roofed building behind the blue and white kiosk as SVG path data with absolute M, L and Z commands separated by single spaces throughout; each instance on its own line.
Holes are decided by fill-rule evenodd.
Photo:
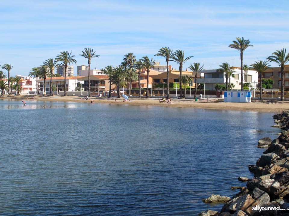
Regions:
M 233 74 L 235 77 L 231 76 L 231 83 L 235 85 L 233 89 L 241 89 L 241 68 L 240 67 L 233 67 L 232 68 Z M 204 73 L 204 78 L 197 79 L 198 83 L 205 82 L 205 89 L 215 90 L 215 85 L 226 85 L 226 78 L 224 73 L 216 72 L 216 70 L 202 70 L 201 73 Z M 253 83 L 258 82 L 258 74 L 255 70 L 243 70 L 244 75 L 244 83 L 250 82 L 252 86 L 255 86 Z M 229 79 L 228 79 L 228 86 L 229 86 Z

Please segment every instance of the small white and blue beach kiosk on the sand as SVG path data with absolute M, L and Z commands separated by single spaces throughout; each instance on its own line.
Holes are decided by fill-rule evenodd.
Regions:
M 250 103 L 252 91 L 224 91 L 224 102 Z

